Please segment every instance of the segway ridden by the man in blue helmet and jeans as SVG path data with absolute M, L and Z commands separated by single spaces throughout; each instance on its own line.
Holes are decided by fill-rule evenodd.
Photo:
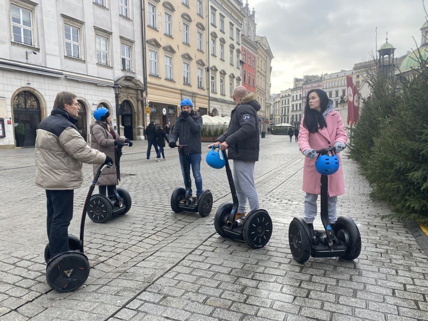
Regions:
M 185 188 L 177 187 L 171 195 L 171 209 L 175 213 L 190 212 L 199 213 L 200 216 L 205 217 L 211 213 L 213 207 L 213 196 L 210 190 L 203 190 L 199 195 L 199 201 L 190 197 L 190 189 L 192 188 L 192 181 L 190 179 L 190 171 L 186 167 L 186 156 L 183 148 L 187 145 L 177 145 L 178 152 L 183 159 Z

